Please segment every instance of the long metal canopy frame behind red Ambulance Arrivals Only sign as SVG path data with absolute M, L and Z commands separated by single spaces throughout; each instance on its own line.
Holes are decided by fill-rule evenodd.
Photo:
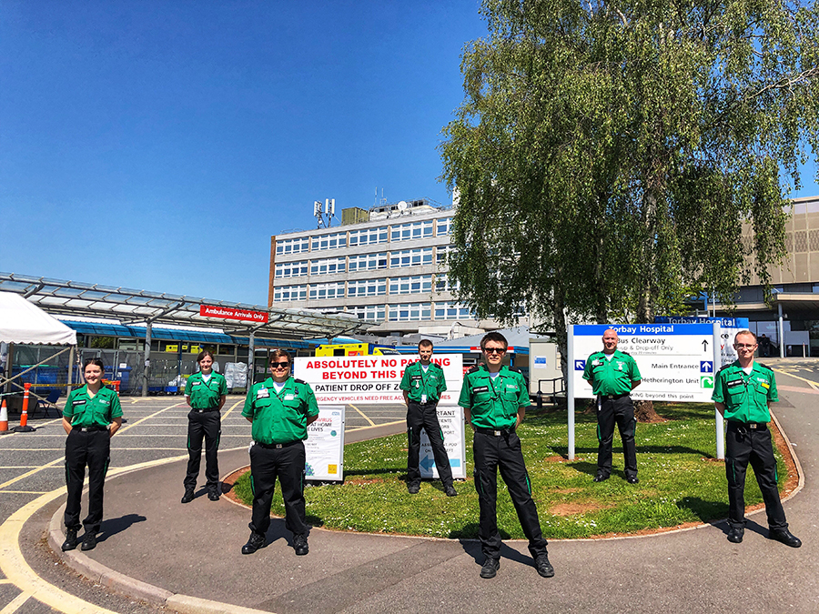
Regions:
M 14 273 L 0 272 L 0 291 L 21 294 L 56 316 L 105 317 L 117 319 L 123 324 L 219 328 L 228 335 L 240 333 L 261 338 L 290 339 L 338 337 L 364 331 L 369 326 L 356 317 L 325 315 L 308 309 L 263 307 Z M 202 305 L 263 311 L 268 313 L 268 322 L 260 324 L 203 317 L 199 315 Z

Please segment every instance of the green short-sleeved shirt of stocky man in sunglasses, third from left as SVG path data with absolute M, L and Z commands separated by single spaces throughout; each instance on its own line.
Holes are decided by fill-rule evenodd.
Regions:
M 318 415 L 313 388 L 292 376 L 278 394 L 272 377 L 251 386 L 242 410 L 242 416 L 253 420 L 253 440 L 263 444 L 307 439 L 307 418 Z

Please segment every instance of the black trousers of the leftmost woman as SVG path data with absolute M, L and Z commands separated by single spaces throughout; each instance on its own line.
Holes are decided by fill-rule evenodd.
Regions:
M 73 428 L 66 439 L 66 528 L 84 526 L 86 532 L 96 533 L 102 522 L 103 487 L 106 482 L 108 460 L 111 452 L 109 431 L 83 432 Z M 88 467 L 88 516 L 80 525 L 80 501 L 83 497 L 83 481 Z

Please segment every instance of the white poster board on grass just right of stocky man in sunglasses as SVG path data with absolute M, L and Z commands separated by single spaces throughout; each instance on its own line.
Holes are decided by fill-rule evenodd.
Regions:
M 343 405 L 319 405 L 319 418 L 308 427 L 304 451 L 306 479 L 339 482 L 344 479 Z

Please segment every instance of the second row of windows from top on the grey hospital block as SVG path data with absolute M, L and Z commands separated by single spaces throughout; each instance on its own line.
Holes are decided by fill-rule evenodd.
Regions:
M 435 263 L 443 264 L 450 246 L 441 246 L 435 256 Z M 379 268 L 420 267 L 432 264 L 432 247 L 404 249 L 398 252 L 379 252 L 377 254 L 360 254 L 349 258 L 325 258 L 323 260 L 300 260 L 276 265 L 275 277 L 301 277 L 310 275 L 332 275 L 346 270 L 369 271 Z M 388 266 L 389 265 L 389 266 Z

